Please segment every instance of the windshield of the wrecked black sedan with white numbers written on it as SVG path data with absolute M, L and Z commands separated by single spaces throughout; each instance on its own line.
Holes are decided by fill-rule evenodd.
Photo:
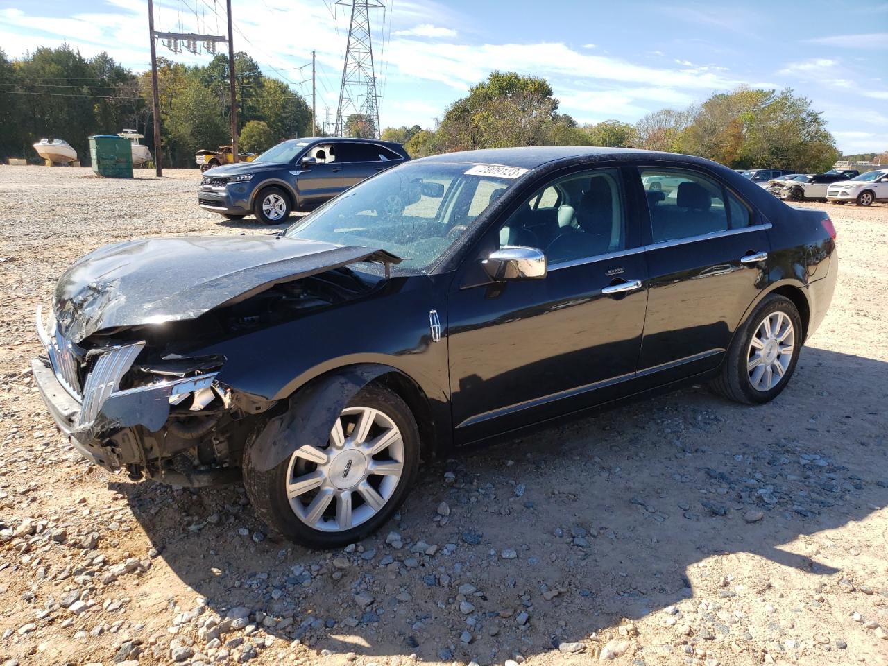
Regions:
M 507 169 L 507 176 L 491 175 L 496 170 L 465 163 L 407 163 L 345 191 L 285 235 L 388 250 L 403 259 L 392 273 L 423 274 L 524 172 Z

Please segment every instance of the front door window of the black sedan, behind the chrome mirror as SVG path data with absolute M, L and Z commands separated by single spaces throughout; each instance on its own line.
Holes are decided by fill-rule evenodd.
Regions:
M 623 250 L 625 239 L 622 181 L 614 169 L 582 171 L 541 187 L 499 231 L 500 246 L 538 248 L 550 266 Z

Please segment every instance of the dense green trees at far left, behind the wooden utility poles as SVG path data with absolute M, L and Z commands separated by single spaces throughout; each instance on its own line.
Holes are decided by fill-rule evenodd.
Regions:
M 313 134 L 311 108 L 287 83 L 262 73 L 247 53 L 234 56 L 242 151 Z M 194 166 L 194 152 L 231 143 L 228 60 L 206 66 L 157 59 L 164 166 Z M 89 137 L 134 129 L 154 152 L 151 72 L 135 74 L 107 53 L 84 58 L 67 44 L 21 59 L 0 49 L 0 159 L 40 163 L 40 139 L 65 139 L 83 163 Z

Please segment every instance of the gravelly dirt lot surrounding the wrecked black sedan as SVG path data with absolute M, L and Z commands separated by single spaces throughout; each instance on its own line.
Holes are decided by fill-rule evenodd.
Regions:
M 34 309 L 75 258 L 262 229 L 167 173 L 0 167 L 0 664 L 888 664 L 888 206 L 809 204 L 839 283 L 778 400 L 695 387 L 440 461 L 318 553 L 241 487 L 85 463 L 36 394 Z

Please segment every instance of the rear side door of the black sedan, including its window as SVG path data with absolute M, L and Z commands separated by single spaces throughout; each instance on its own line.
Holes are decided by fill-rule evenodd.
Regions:
M 641 384 L 714 369 L 766 279 L 770 226 L 711 174 L 641 166 L 642 178 L 681 179 L 674 195 L 647 194 L 648 298 Z

